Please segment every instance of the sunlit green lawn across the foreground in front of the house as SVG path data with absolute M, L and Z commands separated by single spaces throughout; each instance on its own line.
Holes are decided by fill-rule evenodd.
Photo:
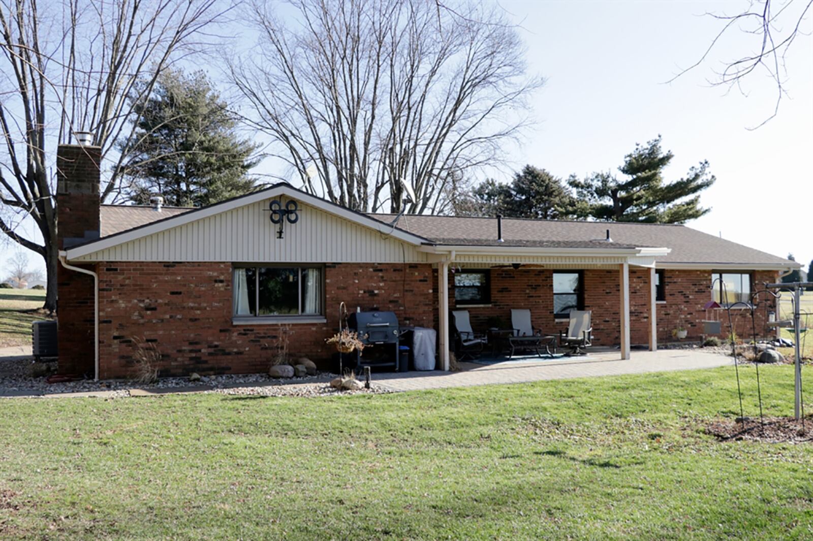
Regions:
M 755 414 L 753 368 L 741 374 Z M 791 367 L 760 374 L 766 413 L 791 413 Z M 322 399 L 6 400 L 0 538 L 811 539 L 811 444 L 700 428 L 738 414 L 736 388 L 726 367 Z

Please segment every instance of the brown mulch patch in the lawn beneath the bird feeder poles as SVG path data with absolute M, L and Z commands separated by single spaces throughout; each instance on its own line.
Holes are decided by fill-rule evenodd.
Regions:
M 746 418 L 739 422 L 733 419 L 718 419 L 706 425 L 706 433 L 720 441 L 749 439 L 770 444 L 813 443 L 813 418 L 806 418 L 804 425 L 791 417 L 766 417 L 764 425 L 759 418 Z

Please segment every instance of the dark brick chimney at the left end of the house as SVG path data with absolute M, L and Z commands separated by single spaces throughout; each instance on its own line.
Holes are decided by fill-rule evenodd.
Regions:
M 99 163 L 102 149 L 59 145 L 57 166 L 57 244 L 67 249 L 99 237 Z M 69 262 L 72 265 L 74 263 Z M 75 265 L 96 271 L 96 266 Z M 93 277 L 57 267 L 57 321 L 60 374 L 93 377 L 95 324 Z

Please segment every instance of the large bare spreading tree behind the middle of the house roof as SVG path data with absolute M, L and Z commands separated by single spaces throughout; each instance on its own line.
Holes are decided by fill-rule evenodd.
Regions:
M 248 121 L 308 192 L 354 210 L 440 211 L 463 173 L 528 125 L 515 28 L 495 7 L 433 0 L 254 2 L 259 41 L 231 73 Z M 233 55 L 232 58 L 236 58 Z

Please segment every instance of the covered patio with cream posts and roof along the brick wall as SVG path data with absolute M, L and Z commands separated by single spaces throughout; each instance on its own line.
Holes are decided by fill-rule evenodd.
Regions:
M 483 335 L 489 328 L 511 329 L 511 309 L 527 309 L 535 329 L 557 336 L 567 331 L 569 309 L 587 310 L 595 354 L 602 350 L 602 357 L 628 360 L 633 344 L 657 350 L 654 263 L 668 249 L 611 240 L 561 247 L 492 244 L 427 249 L 437 263 L 441 370 L 450 369 L 454 351 L 454 309 L 467 310 L 472 329 Z M 491 353 L 486 346 L 485 357 Z

